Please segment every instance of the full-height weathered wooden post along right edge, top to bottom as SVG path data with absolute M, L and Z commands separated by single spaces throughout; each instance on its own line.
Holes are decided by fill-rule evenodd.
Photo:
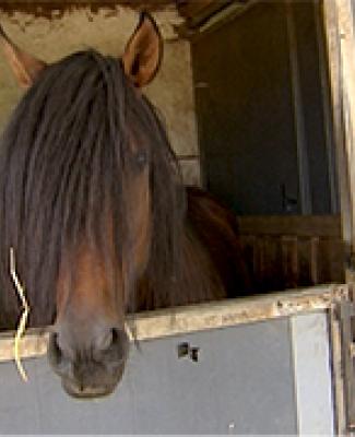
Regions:
M 355 9 L 353 0 L 323 0 L 323 23 L 326 29 L 333 122 L 336 140 L 343 238 L 347 248 L 346 281 L 351 290 L 355 285 Z M 354 300 L 354 295 L 352 296 Z M 354 305 L 354 304 L 353 304 Z M 340 328 L 353 316 L 353 307 L 346 307 Z M 348 323 L 348 320 L 347 320 Z M 355 428 L 355 381 L 354 356 L 351 345 L 354 339 L 347 328 L 342 339 L 342 373 L 344 375 L 344 415 L 340 417 L 339 434 L 351 434 Z

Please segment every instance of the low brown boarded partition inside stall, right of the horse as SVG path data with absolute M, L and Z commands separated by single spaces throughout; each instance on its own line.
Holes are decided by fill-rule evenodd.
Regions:
M 244 216 L 238 225 L 259 293 L 344 281 L 340 216 Z

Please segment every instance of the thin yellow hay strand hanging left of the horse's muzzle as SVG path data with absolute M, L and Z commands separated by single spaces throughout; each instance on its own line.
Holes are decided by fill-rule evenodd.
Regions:
M 20 296 L 21 299 L 21 304 L 22 304 L 22 308 L 23 308 L 23 312 L 21 315 L 21 319 L 19 322 L 19 327 L 16 330 L 16 334 L 15 334 L 15 342 L 14 342 L 14 357 L 15 357 L 15 363 L 17 366 L 17 370 L 22 377 L 22 379 L 26 382 L 28 380 L 27 378 L 27 374 L 21 363 L 21 357 L 20 357 L 20 342 L 21 339 L 25 332 L 26 329 L 26 323 L 27 323 L 27 319 L 28 319 L 28 314 L 29 314 L 29 306 L 27 304 L 26 300 L 26 296 L 25 296 L 25 288 L 24 286 L 21 284 L 17 273 L 16 273 L 16 264 L 15 264 L 15 257 L 14 257 L 14 251 L 13 248 L 10 248 L 10 273 L 11 273 L 11 277 L 13 281 L 13 284 L 16 288 L 16 292 Z

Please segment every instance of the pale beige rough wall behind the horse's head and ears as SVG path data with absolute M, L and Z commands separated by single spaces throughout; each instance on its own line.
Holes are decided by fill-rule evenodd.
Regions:
M 181 157 L 197 156 L 190 47 L 175 34 L 175 26 L 181 21 L 175 9 L 155 12 L 154 16 L 165 39 L 164 60 L 158 75 L 145 93 L 159 109 L 176 153 Z M 138 13 L 123 7 L 96 12 L 71 10 L 54 13 L 51 17 L 2 12 L 0 21 L 17 45 L 51 62 L 88 47 L 119 56 L 137 25 Z M 22 91 L 0 52 L 0 129 L 21 95 Z M 199 181 L 198 160 L 182 160 L 181 165 L 188 182 Z

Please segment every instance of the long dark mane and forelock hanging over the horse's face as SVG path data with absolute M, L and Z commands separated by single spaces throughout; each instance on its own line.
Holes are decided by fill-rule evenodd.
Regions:
M 66 257 L 74 276 L 72 249 L 83 237 L 105 260 L 107 274 L 115 276 L 128 257 L 129 187 L 122 175 L 130 172 L 131 127 L 144 139 L 151 165 L 151 286 L 157 303 L 174 296 L 174 286 L 166 285 L 180 274 L 185 215 L 176 156 L 154 107 L 121 63 L 87 50 L 40 73 L 1 139 L 0 327 L 13 327 L 20 310 L 9 272 L 11 247 L 36 326 L 52 322 L 60 262 Z M 106 238 L 109 214 L 114 255 Z M 131 299 L 134 307 L 133 294 Z

